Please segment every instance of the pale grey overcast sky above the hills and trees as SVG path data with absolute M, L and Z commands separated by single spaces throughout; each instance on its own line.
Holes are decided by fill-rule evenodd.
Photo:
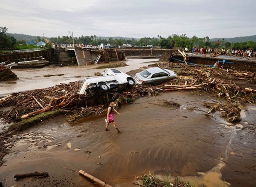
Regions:
M 8 33 L 62 37 L 256 35 L 256 0 L 0 0 Z

